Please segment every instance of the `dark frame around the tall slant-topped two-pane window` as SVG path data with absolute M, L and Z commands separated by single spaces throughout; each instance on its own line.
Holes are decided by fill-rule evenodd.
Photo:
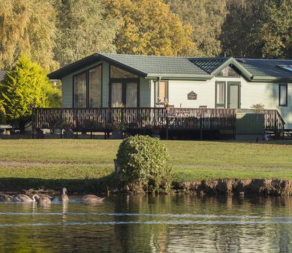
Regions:
M 74 74 L 74 76 L 72 76 L 72 107 L 75 108 L 75 77 L 85 73 L 85 85 L 86 85 L 86 107 L 84 108 L 94 108 L 94 107 L 89 107 L 89 71 L 92 69 L 95 69 L 96 67 L 101 66 L 101 107 L 98 108 L 102 108 L 103 107 L 103 63 L 99 63 L 93 67 L 91 67 L 90 69 L 85 69 L 83 71 L 80 71 L 76 74 Z M 78 107 L 76 107 L 78 108 Z

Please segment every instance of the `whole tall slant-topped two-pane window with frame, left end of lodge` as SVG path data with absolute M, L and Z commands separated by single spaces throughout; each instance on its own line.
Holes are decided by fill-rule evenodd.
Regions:
M 74 76 L 74 107 L 101 107 L 102 66 Z

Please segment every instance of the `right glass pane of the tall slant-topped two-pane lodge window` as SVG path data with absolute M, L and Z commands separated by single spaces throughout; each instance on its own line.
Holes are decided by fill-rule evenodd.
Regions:
M 101 65 L 89 70 L 89 107 L 101 107 Z

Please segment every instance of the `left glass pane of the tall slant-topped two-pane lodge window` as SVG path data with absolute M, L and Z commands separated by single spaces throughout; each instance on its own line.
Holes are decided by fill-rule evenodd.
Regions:
M 74 107 L 86 107 L 86 72 L 74 76 Z

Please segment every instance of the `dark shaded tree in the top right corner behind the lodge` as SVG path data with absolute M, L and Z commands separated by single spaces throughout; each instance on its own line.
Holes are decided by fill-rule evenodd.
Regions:
M 228 0 L 221 41 L 227 55 L 291 58 L 292 0 Z

